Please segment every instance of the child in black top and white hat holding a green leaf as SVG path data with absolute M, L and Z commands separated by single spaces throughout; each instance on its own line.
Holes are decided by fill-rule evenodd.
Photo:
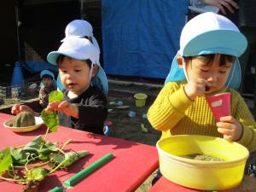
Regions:
M 104 121 L 108 116 L 107 97 L 96 86 L 90 84 L 93 77 L 107 88 L 104 71 L 93 70 L 98 61 L 99 50 L 86 38 L 67 38 L 56 51 L 47 56 L 47 61 L 59 68 L 61 84 L 64 85 L 64 101 L 50 102 L 46 111 L 57 110 L 59 124 L 73 129 L 103 135 Z M 15 105 L 12 113 L 33 112 L 26 105 Z M 34 113 L 37 115 L 37 113 Z

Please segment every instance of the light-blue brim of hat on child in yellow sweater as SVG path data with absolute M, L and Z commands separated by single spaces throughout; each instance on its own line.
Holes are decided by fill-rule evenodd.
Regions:
M 228 40 L 227 40 L 228 39 Z M 247 49 L 247 38 L 241 32 L 214 30 L 191 39 L 183 47 L 183 56 L 226 54 L 239 57 Z

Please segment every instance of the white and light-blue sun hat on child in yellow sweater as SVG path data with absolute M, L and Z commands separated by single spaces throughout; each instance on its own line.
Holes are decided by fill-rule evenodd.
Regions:
M 225 54 L 236 56 L 226 82 L 226 86 L 236 90 L 241 83 L 241 68 L 237 57 L 246 49 L 247 38 L 232 21 L 212 12 L 197 15 L 183 27 L 180 49 L 172 61 L 172 67 L 165 83 L 186 79 L 184 67 L 179 67 L 177 63 L 179 55 Z

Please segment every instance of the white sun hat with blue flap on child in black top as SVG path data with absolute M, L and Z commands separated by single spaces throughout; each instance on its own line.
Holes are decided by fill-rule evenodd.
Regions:
M 97 65 L 99 70 L 96 73 L 96 76 L 91 78 L 91 81 L 98 79 L 98 84 L 96 86 L 101 88 L 105 95 L 108 95 L 108 79 L 106 73 L 97 62 L 99 60 L 100 52 L 88 39 L 77 37 L 67 38 L 63 41 L 57 51 L 49 52 L 47 61 L 53 65 L 57 65 L 59 55 L 67 55 L 77 60 L 90 60 L 94 65 Z M 57 79 L 57 82 L 58 81 L 61 83 L 60 79 Z

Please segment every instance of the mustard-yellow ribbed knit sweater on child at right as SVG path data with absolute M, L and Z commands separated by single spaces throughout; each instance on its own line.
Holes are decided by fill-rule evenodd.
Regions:
M 189 100 L 183 86 L 185 81 L 167 83 L 160 91 L 153 105 L 148 109 L 148 120 L 151 125 L 162 131 L 162 137 L 171 135 L 205 135 L 223 137 L 218 133 L 216 121 L 208 107 L 205 96 Z M 227 88 L 218 90 L 211 95 L 221 92 L 231 93 L 231 115 L 241 122 L 241 143 L 249 151 L 256 150 L 256 124 L 246 102 L 236 90 Z

